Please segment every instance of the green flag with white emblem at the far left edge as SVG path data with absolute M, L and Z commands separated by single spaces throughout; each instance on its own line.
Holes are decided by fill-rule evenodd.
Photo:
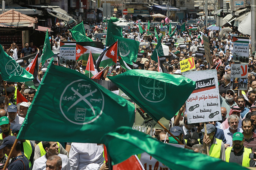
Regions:
M 13 58 L 3 51 L 0 45 L 0 71 L 2 79 L 10 82 L 27 82 L 34 79 L 34 76 L 22 68 Z

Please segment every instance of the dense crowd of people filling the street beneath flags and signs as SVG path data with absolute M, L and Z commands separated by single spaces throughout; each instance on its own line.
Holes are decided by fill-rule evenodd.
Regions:
M 163 23 L 163 25 L 169 25 Z M 234 162 L 244 167 L 255 167 L 256 161 L 256 58 L 251 47 L 249 58 L 243 62 L 248 63 L 247 90 L 234 91 L 231 85 L 231 64 L 236 63 L 233 58 L 233 37 L 248 36 L 242 35 L 231 27 L 231 31 L 221 33 L 218 30 L 207 30 L 202 25 L 195 25 L 197 30 L 178 32 L 176 26 L 170 33 L 162 35 L 160 25 L 154 26 L 156 33 L 140 33 L 139 28 L 133 27 L 130 31 L 122 32 L 124 38 L 134 39 L 143 45 L 139 53 L 143 53 L 145 60 L 138 60 L 138 68 L 142 70 L 157 71 L 159 63 L 151 60 L 156 43 L 169 43 L 169 54 L 165 56 L 163 67 L 165 73 L 181 75 L 180 61 L 194 57 L 195 69 L 200 76 L 201 70 L 211 69 L 219 64 L 217 77 L 219 83 L 219 97 L 221 103 L 222 120 L 206 122 L 206 130 L 203 127 L 205 122 L 200 124 L 188 124 L 185 104 L 170 120 L 169 130 L 175 136 L 170 137 L 161 129 L 148 128 L 147 134 L 164 143 L 175 143 L 180 141 L 185 148 L 194 152 L 207 154 L 223 161 Z M 90 24 L 91 31 L 88 34 L 106 33 L 106 26 L 102 22 Z M 149 29 L 148 29 L 149 30 Z M 171 35 L 171 36 L 170 36 Z M 209 37 L 212 65 L 205 58 L 205 55 L 198 57 L 196 53 L 203 48 L 203 35 Z M 157 36 L 157 37 L 156 37 Z M 160 37 L 162 36 L 162 39 Z M 105 37 L 102 37 L 104 39 Z M 183 38 L 186 46 L 175 44 L 177 38 Z M 93 39 L 93 38 L 92 38 Z M 102 39 L 93 39 L 101 41 Z M 60 41 L 74 41 L 69 30 L 59 30 L 56 36 L 50 36 L 53 50 L 59 50 Z M 42 42 L 43 44 L 43 42 Z M 21 49 L 21 55 L 16 43 L 12 43 L 6 53 L 13 59 L 25 57 L 39 52 L 42 54 L 43 46 L 37 48 L 33 42 L 25 43 Z M 28 64 L 27 64 L 28 65 Z M 43 75 L 45 67 L 40 64 L 38 73 Z M 44 69 L 45 68 L 45 69 Z M 77 61 L 77 71 L 84 71 L 82 61 Z M 103 67 L 99 68 L 103 70 Z M 109 80 L 107 76 L 116 76 L 125 72 L 119 64 L 106 67 L 103 79 Z M 42 78 L 42 77 L 41 77 Z M 2 81 L 3 82 L 3 81 Z M 29 88 L 24 82 L 5 82 L 0 86 L 0 163 L 5 164 L 12 145 L 19 134 L 21 125 L 27 115 L 28 108 L 34 100 L 36 90 Z M 28 102 L 17 103 L 17 91 L 19 91 Z M 175 100 L 175 99 L 174 99 Z M 150 132 L 151 131 L 151 132 Z M 205 134 L 205 131 L 207 134 Z M 208 149 L 207 149 L 208 147 Z M 6 154 L 6 155 L 5 155 Z M 9 162 L 9 170 L 107 170 L 108 165 L 104 163 L 103 145 L 94 143 L 61 143 L 56 141 L 29 141 L 19 140 L 12 159 Z M 172 167 L 170 167 L 172 168 Z

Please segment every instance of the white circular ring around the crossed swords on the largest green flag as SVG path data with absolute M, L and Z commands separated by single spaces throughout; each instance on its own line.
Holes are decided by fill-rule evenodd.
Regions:
M 72 121 L 72 120 L 70 120 L 70 119 L 65 115 L 65 113 L 63 112 L 62 107 L 61 107 L 62 97 L 63 97 L 63 94 L 65 94 L 67 88 L 69 88 L 69 86 L 72 85 L 73 83 L 79 82 L 79 81 L 86 81 L 86 80 L 84 80 L 84 79 L 75 80 L 75 81 L 69 83 L 69 84 L 66 86 L 66 88 L 63 90 L 63 92 L 62 92 L 62 94 L 61 94 L 61 96 L 60 96 L 60 100 L 59 100 L 59 109 L 60 109 L 60 111 L 62 112 L 62 115 L 63 115 L 68 121 L 70 121 L 71 123 L 79 124 L 79 125 L 90 124 L 90 123 L 94 122 L 95 120 L 97 120 L 97 119 L 100 117 L 100 115 L 102 115 L 103 109 L 104 109 L 104 97 L 103 97 L 102 92 L 100 91 L 100 89 L 99 89 L 97 86 L 95 86 L 95 87 L 100 91 L 100 93 L 101 93 L 101 95 L 102 95 L 102 99 L 103 99 L 103 100 L 102 100 L 102 108 L 101 108 L 101 110 L 100 110 L 100 114 L 97 115 L 95 118 L 93 118 L 91 121 L 83 122 L 83 123 L 78 123 L 78 122 Z M 86 81 L 86 82 L 87 82 L 87 81 Z

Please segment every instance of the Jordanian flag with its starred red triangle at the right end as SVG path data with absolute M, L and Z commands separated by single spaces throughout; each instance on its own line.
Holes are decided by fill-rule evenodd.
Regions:
M 116 65 L 117 60 L 117 42 L 113 43 L 106 49 L 103 53 L 100 54 L 100 57 L 96 61 L 96 67 L 106 67 Z

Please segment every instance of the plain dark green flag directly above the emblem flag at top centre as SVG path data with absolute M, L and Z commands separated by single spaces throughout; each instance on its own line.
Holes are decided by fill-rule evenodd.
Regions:
M 112 22 L 109 22 L 106 35 L 106 46 L 111 46 L 113 43 L 116 42 L 112 35 L 123 37 L 122 27 L 119 27 Z

